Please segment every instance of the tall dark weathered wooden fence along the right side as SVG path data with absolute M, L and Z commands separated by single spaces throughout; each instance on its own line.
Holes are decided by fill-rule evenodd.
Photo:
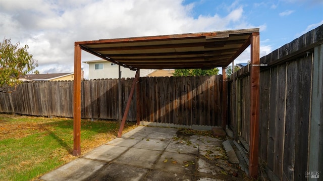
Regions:
M 323 25 L 260 58 L 259 158 L 278 180 L 323 173 Z M 229 127 L 249 144 L 250 67 L 229 82 Z M 321 176 L 321 175 L 320 175 Z

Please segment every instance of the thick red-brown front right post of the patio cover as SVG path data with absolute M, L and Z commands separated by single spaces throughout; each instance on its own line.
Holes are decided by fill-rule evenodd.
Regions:
M 251 102 L 250 102 L 250 155 L 249 175 L 257 178 L 259 155 L 259 84 L 260 84 L 260 59 L 259 59 L 259 33 L 252 33 L 251 39 Z

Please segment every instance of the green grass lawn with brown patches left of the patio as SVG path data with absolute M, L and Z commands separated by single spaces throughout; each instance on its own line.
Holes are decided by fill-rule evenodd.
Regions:
M 124 132 L 133 129 L 127 123 Z M 81 152 L 116 138 L 117 121 L 81 120 Z M 77 157 L 73 119 L 0 114 L 0 180 L 33 180 Z

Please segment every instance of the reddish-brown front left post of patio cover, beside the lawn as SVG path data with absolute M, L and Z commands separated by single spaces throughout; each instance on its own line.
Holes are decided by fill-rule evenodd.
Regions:
M 81 155 L 81 47 L 74 47 L 73 155 Z

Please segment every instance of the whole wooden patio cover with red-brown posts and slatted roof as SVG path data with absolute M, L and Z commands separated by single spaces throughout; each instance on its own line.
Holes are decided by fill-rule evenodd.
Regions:
M 75 42 L 74 56 L 74 148 L 73 155 L 81 154 L 81 51 L 136 70 L 129 100 L 122 118 L 118 136 L 128 115 L 130 101 L 139 79 L 140 69 L 213 69 L 223 72 L 223 120 L 227 123 L 226 68 L 248 46 L 251 47 L 251 112 L 249 174 L 258 172 L 259 139 L 259 29 L 242 29 L 204 33 L 188 33 L 118 39 L 100 39 Z M 139 86 L 137 86 L 139 87 Z M 138 92 L 138 91 L 137 91 Z M 140 122 L 140 102 L 137 101 L 137 123 Z

